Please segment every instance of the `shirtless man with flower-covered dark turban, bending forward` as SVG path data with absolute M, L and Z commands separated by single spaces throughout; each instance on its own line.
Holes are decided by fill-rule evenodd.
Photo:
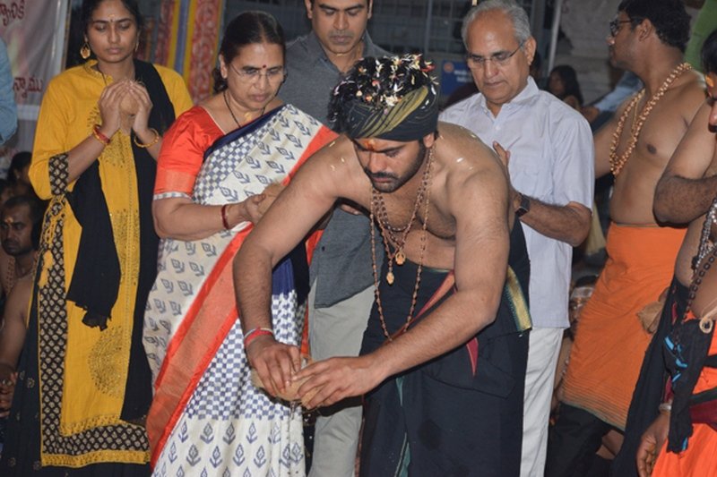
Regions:
M 431 70 L 419 55 L 367 57 L 334 89 L 341 136 L 307 160 L 235 260 L 242 326 L 263 330 L 247 358 L 268 392 L 300 384 L 309 408 L 366 395 L 361 475 L 517 476 L 531 326 L 523 231 L 499 158 L 438 123 Z M 271 270 L 339 199 L 383 236 L 376 302 L 360 356 L 299 371 L 298 348 L 272 334 Z

